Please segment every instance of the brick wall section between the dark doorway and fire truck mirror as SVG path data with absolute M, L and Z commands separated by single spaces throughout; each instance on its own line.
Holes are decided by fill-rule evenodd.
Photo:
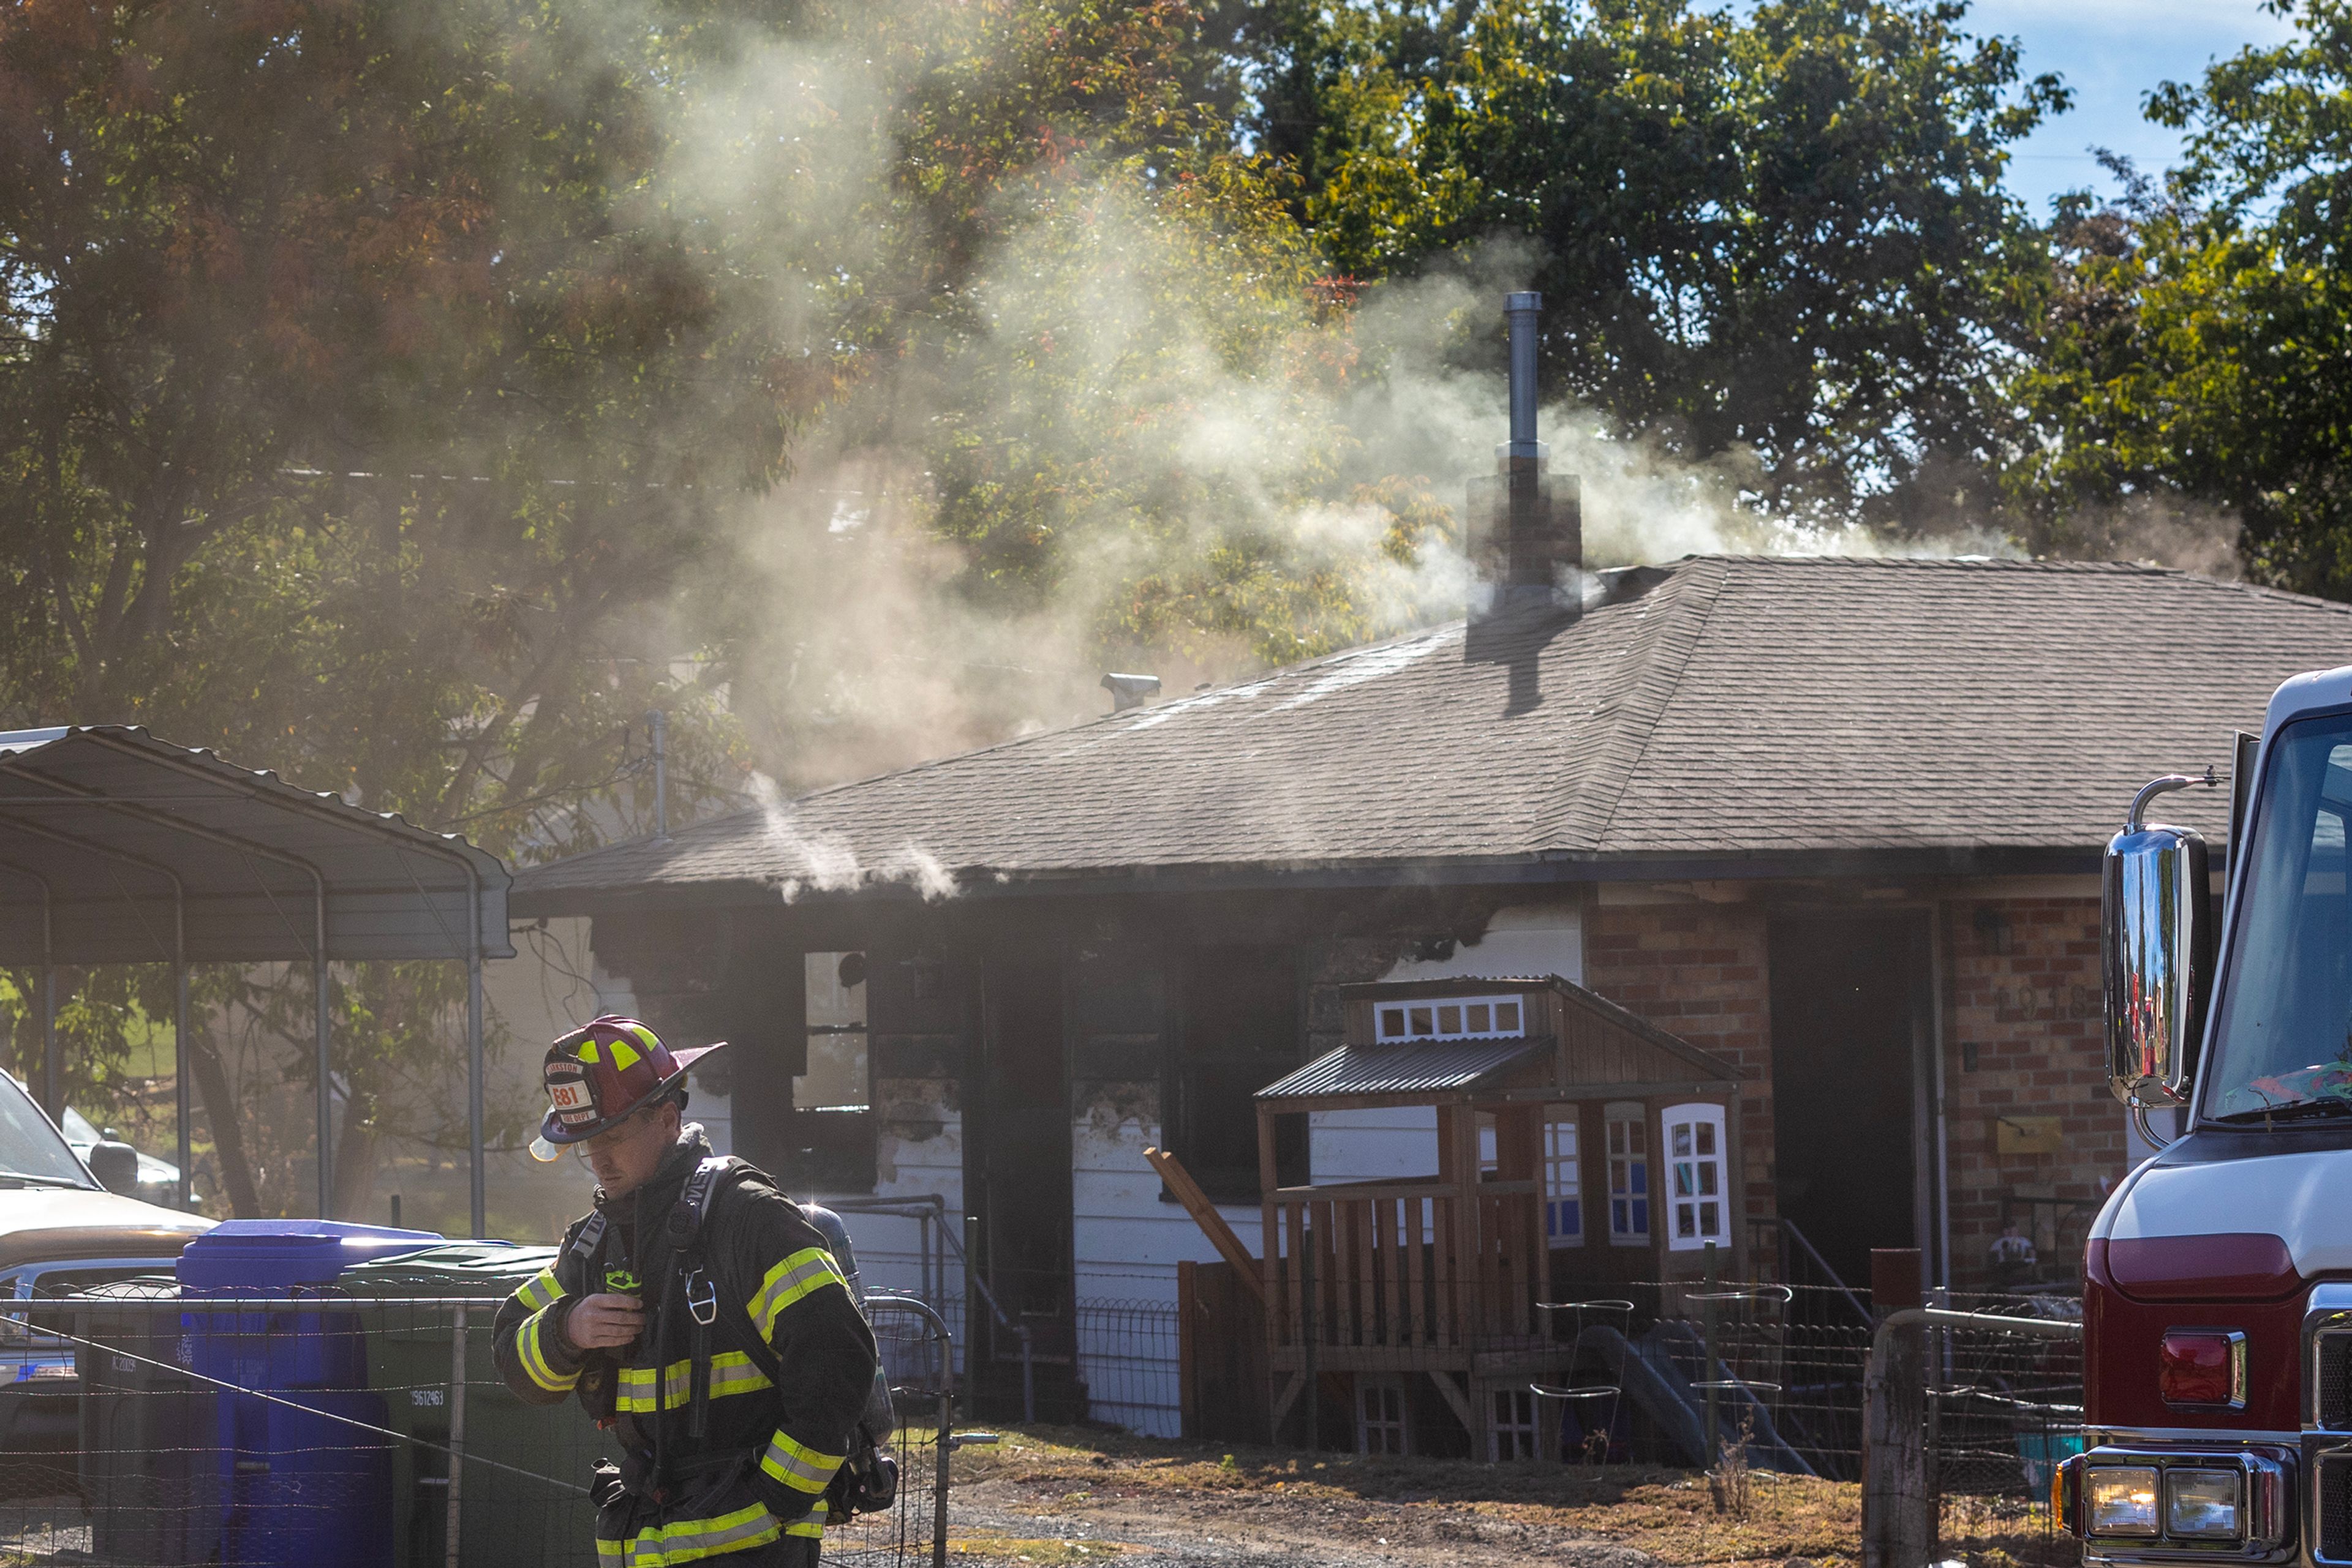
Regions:
M 1947 903 L 1943 929 L 1952 1281 L 1990 1281 L 2004 1197 L 2042 1276 L 2065 1276 L 2126 1159 L 2100 1058 L 2098 900 Z

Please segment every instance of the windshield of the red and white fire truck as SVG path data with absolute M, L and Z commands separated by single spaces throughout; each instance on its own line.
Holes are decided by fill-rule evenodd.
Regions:
M 2352 715 L 2272 743 L 2213 1020 L 2206 1117 L 2352 1114 Z

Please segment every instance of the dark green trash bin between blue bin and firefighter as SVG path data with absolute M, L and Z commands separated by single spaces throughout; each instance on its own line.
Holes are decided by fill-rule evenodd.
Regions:
M 553 1262 L 553 1246 L 463 1241 L 343 1272 L 353 1295 L 393 1298 L 365 1314 L 367 1382 L 383 1394 L 393 1427 L 428 1443 L 400 1443 L 393 1455 L 393 1568 L 449 1561 L 442 1450 L 459 1399 L 454 1309 L 409 1309 L 397 1298 L 480 1302 L 466 1309 L 466 1458 L 496 1465 L 466 1465 L 459 1476 L 461 1568 L 595 1568 L 588 1500 L 572 1488 L 588 1486 L 588 1469 L 612 1450 L 612 1439 L 572 1399 L 522 1403 L 492 1359 L 499 1302 Z

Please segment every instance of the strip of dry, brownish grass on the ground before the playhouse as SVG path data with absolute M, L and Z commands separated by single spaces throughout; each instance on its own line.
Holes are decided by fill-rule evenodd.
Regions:
M 1686 1469 L 1310 1458 L 1028 1427 L 1007 1429 L 997 1448 L 960 1450 L 955 1479 L 957 1486 L 1009 1486 L 1025 1507 L 1047 1514 L 1141 1505 L 1155 1519 L 1181 1521 L 1188 1502 L 1207 1509 L 1244 1495 L 1261 1505 L 1296 1497 L 1301 1514 L 1327 1502 L 1381 1502 L 1406 1505 L 1416 1514 L 1489 1516 L 1635 1547 L 1677 1566 L 1778 1568 L 1788 1559 L 1809 1559 L 1830 1568 L 1860 1556 L 1858 1486 L 1766 1469 L 1748 1472 L 1748 1507 L 1726 1514 L 1717 1509 L 1710 1479 Z M 1103 1552 L 1101 1542 L 1094 1547 Z M 1943 1554 L 1973 1568 L 2013 1568 L 2065 1561 L 2065 1542 L 2049 1542 L 2039 1519 L 2023 1507 L 1955 1500 L 1945 1514 Z

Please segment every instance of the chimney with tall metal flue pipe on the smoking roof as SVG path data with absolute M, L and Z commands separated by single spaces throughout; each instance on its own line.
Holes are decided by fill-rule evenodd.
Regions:
M 1536 315 L 1541 294 L 1505 294 L 1510 320 L 1510 440 L 1494 449 L 1496 475 L 1470 484 L 1470 618 L 1505 611 L 1576 614 L 1583 567 L 1583 512 L 1576 480 L 1550 477 L 1536 440 Z

